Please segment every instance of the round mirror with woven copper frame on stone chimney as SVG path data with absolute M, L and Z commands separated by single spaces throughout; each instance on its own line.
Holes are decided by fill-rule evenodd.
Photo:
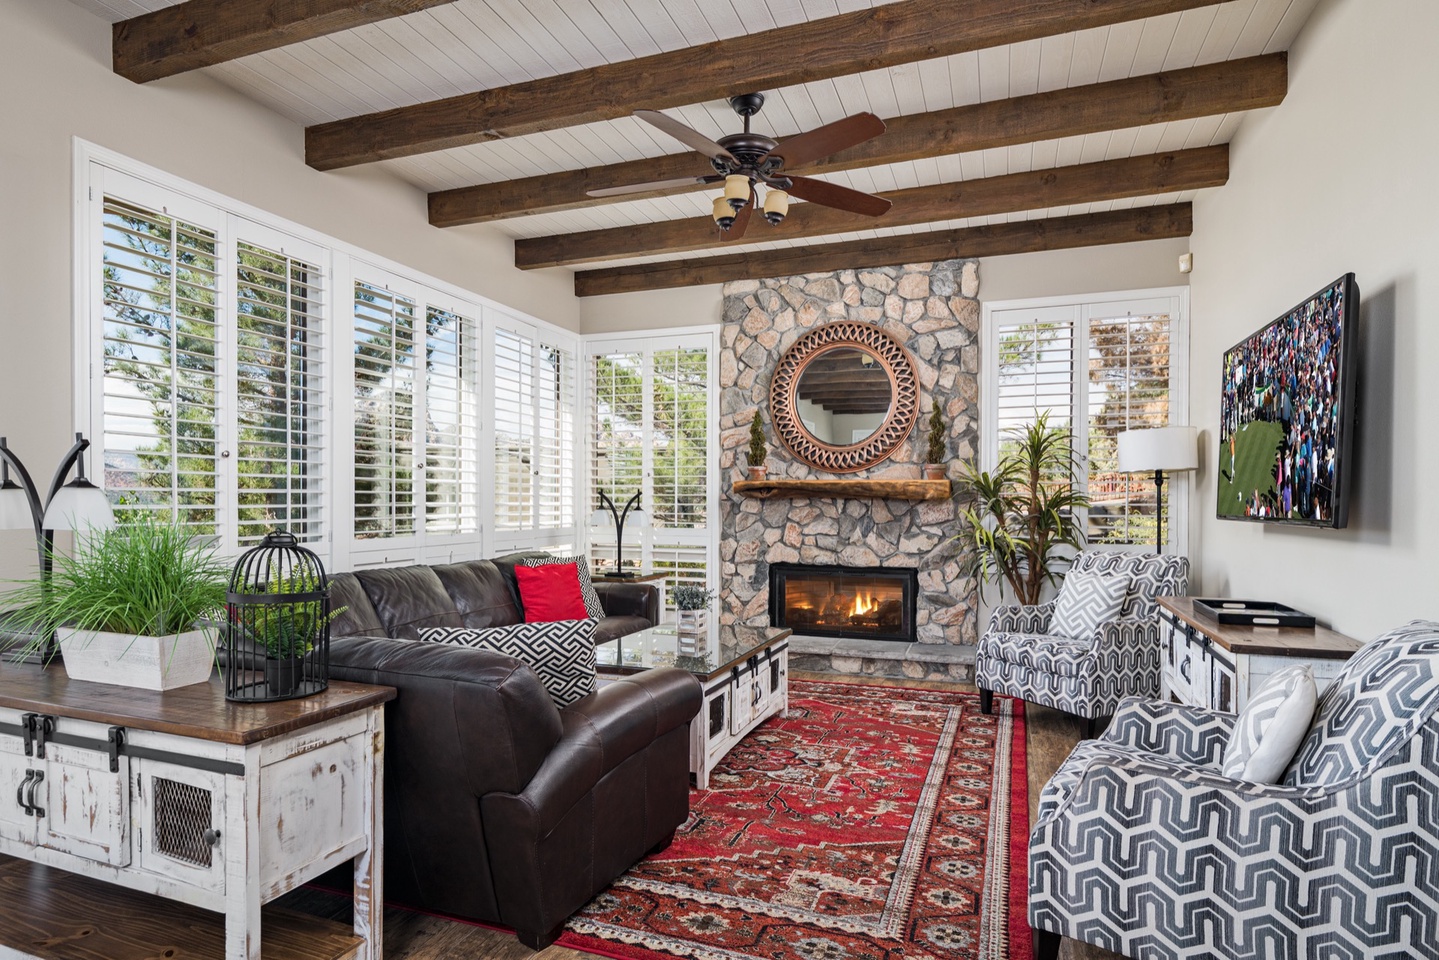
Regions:
M 804 463 L 836 474 L 882 462 L 914 429 L 914 361 L 875 324 L 837 320 L 784 351 L 770 380 L 774 433 Z

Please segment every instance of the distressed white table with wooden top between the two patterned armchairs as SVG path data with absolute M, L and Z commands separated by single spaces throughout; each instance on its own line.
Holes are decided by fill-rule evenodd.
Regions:
M 1314 668 L 1322 691 L 1361 646 L 1334 630 L 1236 626 L 1194 610 L 1191 597 L 1160 597 L 1161 695 L 1191 707 L 1236 714 L 1253 691 L 1295 661 Z

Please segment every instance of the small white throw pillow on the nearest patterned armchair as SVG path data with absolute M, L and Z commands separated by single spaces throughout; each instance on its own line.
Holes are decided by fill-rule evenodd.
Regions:
M 1314 669 L 1308 664 L 1281 668 L 1265 681 L 1239 718 L 1225 747 L 1222 771 L 1232 780 L 1279 783 L 1309 733 L 1318 704 Z

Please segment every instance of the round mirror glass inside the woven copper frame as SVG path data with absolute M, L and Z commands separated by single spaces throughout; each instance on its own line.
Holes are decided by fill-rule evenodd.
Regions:
M 836 345 L 804 366 L 794 400 L 810 436 L 833 446 L 852 446 L 868 440 L 889 419 L 894 384 L 876 356 Z

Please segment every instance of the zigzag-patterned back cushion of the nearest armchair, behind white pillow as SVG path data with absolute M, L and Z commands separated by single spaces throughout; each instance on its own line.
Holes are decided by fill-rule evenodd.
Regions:
M 1384 760 L 1439 708 L 1439 623 L 1415 620 L 1364 645 L 1320 697 L 1286 786 L 1343 783 Z

